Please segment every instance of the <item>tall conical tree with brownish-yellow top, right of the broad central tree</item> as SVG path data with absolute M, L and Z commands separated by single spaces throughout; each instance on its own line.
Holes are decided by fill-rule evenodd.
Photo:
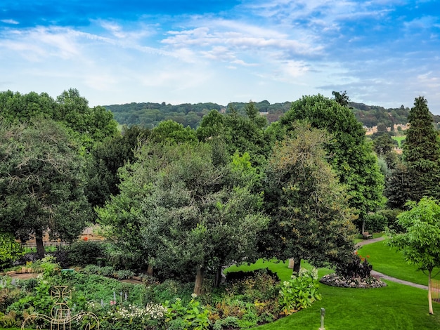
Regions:
M 324 150 L 324 130 L 295 124 L 292 136 L 278 143 L 266 171 L 268 230 L 260 235 L 267 258 L 301 259 L 319 267 L 340 265 L 354 250 L 355 216 Z

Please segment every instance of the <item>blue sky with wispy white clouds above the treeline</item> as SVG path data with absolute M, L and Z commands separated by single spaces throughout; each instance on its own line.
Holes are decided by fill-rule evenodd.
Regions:
M 0 91 L 91 107 L 347 91 L 440 114 L 436 0 L 1 0 Z

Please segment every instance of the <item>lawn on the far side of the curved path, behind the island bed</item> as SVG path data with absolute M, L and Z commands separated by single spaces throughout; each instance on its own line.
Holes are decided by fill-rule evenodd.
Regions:
M 384 241 L 364 245 L 358 250 L 358 253 L 362 256 L 370 256 L 368 260 L 377 272 L 409 282 L 428 285 L 427 275 L 418 271 L 415 265 L 408 265 L 401 253 L 385 245 Z M 436 275 L 438 271 L 434 270 L 432 275 Z M 440 274 L 436 275 L 434 279 L 440 280 Z

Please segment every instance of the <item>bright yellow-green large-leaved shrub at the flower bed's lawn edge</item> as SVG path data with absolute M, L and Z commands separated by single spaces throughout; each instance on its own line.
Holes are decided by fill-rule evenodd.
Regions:
M 318 293 L 318 272 L 316 269 L 302 268 L 292 275 L 289 281 L 284 281 L 280 289 L 278 303 L 281 313 L 291 315 L 298 310 L 308 308 L 315 301 L 321 300 Z

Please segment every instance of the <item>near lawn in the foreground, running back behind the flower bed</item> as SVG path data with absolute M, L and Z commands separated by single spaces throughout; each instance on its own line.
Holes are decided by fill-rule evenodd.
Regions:
M 302 265 L 310 267 L 307 263 Z M 228 271 L 269 268 L 288 279 L 292 270 L 287 263 L 258 260 L 253 265 L 232 266 Z M 332 272 L 318 270 L 321 277 Z M 439 329 L 440 304 L 434 303 L 434 315 L 428 313 L 427 291 L 403 284 L 387 282 L 380 289 L 345 289 L 321 284 L 323 299 L 311 308 L 301 310 L 257 330 L 317 330 L 321 326 L 321 308 L 325 308 L 325 329 Z

